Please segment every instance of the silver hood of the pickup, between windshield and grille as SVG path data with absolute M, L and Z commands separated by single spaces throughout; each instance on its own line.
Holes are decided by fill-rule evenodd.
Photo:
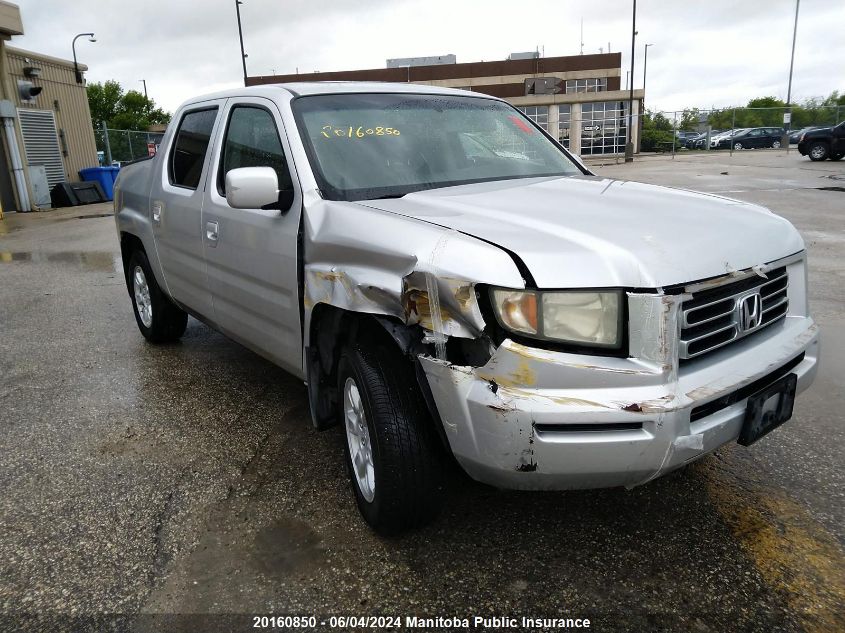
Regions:
M 516 253 L 540 288 L 656 288 L 803 250 L 762 207 L 597 176 L 447 187 L 359 204 L 455 229 Z

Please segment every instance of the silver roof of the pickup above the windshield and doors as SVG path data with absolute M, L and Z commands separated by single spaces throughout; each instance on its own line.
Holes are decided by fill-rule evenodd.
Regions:
M 221 99 L 227 97 L 278 97 L 279 91 L 292 94 L 295 97 L 316 94 L 344 94 L 344 93 L 366 93 L 366 92 L 407 92 L 417 94 L 439 94 L 454 96 L 473 96 L 485 99 L 496 99 L 479 92 L 461 90 L 459 88 L 446 88 L 443 86 L 428 86 L 414 83 L 392 83 L 381 81 L 298 81 L 292 83 L 262 84 L 260 86 L 247 86 L 245 88 L 232 88 L 210 94 L 201 95 L 188 99 L 185 103 L 196 103 L 208 99 Z M 496 99 L 497 101 L 500 99 Z

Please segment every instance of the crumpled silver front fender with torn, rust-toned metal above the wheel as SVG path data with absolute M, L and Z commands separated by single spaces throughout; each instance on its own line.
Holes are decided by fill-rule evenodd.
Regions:
M 525 281 L 499 248 L 457 231 L 363 205 L 321 201 L 305 222 L 306 340 L 323 303 L 419 325 L 431 342 L 484 329 L 475 285 Z M 439 335 L 439 336 L 435 336 Z

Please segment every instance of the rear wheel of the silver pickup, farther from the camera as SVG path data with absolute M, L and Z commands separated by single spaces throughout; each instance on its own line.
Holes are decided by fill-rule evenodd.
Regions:
M 188 315 L 162 292 L 142 250 L 134 251 L 129 258 L 126 285 L 135 322 L 144 338 L 151 343 L 178 341 L 188 326 Z

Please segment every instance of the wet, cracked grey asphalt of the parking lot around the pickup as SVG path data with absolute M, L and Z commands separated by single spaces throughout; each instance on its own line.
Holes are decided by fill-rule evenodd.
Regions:
M 845 630 L 845 161 L 592 167 L 761 203 L 799 228 L 823 350 L 793 420 L 633 490 L 508 492 L 454 471 L 436 522 L 380 538 L 357 514 L 342 431 L 311 428 L 301 382 L 194 320 L 178 345 L 144 342 L 107 206 L 10 214 L 0 628 L 24 613 L 383 613 Z

